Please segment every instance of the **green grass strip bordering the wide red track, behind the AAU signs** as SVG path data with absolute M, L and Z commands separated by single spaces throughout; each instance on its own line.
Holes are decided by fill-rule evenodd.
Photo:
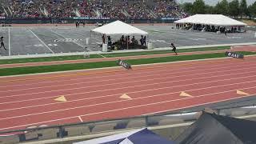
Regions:
M 239 54 L 251 55 L 251 54 L 256 54 L 256 52 L 239 52 Z M 162 57 L 162 58 L 132 59 L 132 60 L 127 60 L 126 62 L 129 62 L 133 66 L 133 65 L 159 63 L 159 62 L 177 62 L 177 61 L 186 61 L 186 60 L 224 58 L 224 57 L 226 57 L 224 53 L 194 54 L 194 55 L 170 56 L 170 57 Z M 0 69 L 0 76 L 17 75 L 17 74 L 37 74 L 37 73 L 66 71 L 66 70 L 86 70 L 86 69 L 113 67 L 113 66 L 118 66 L 116 61 L 63 64 L 63 65 L 54 65 L 54 66 L 15 67 L 15 68 Z

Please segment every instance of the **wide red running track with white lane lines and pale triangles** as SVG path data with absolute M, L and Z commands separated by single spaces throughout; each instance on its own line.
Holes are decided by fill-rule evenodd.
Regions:
M 0 78 L 0 130 L 182 110 L 256 94 L 256 57 Z

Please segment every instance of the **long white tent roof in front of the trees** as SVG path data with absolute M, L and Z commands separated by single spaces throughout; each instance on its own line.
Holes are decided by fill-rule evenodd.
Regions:
M 246 23 L 239 22 L 222 14 L 195 14 L 188 18 L 175 21 L 175 23 L 194 23 L 213 26 L 246 26 Z

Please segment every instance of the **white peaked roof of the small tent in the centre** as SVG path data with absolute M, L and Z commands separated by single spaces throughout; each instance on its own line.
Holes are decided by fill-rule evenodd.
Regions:
M 107 25 L 100 26 L 98 28 L 95 28 L 94 30 L 91 30 L 94 33 L 99 34 L 106 34 L 106 35 L 114 35 L 114 34 L 142 34 L 147 35 L 148 33 L 146 31 L 140 30 L 137 27 L 130 26 L 126 24 L 125 22 L 121 21 L 115 21 L 111 22 Z

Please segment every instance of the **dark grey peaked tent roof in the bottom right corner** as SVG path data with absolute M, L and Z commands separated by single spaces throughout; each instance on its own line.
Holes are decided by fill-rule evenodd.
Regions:
M 256 143 L 256 122 L 203 113 L 176 139 L 180 144 Z

